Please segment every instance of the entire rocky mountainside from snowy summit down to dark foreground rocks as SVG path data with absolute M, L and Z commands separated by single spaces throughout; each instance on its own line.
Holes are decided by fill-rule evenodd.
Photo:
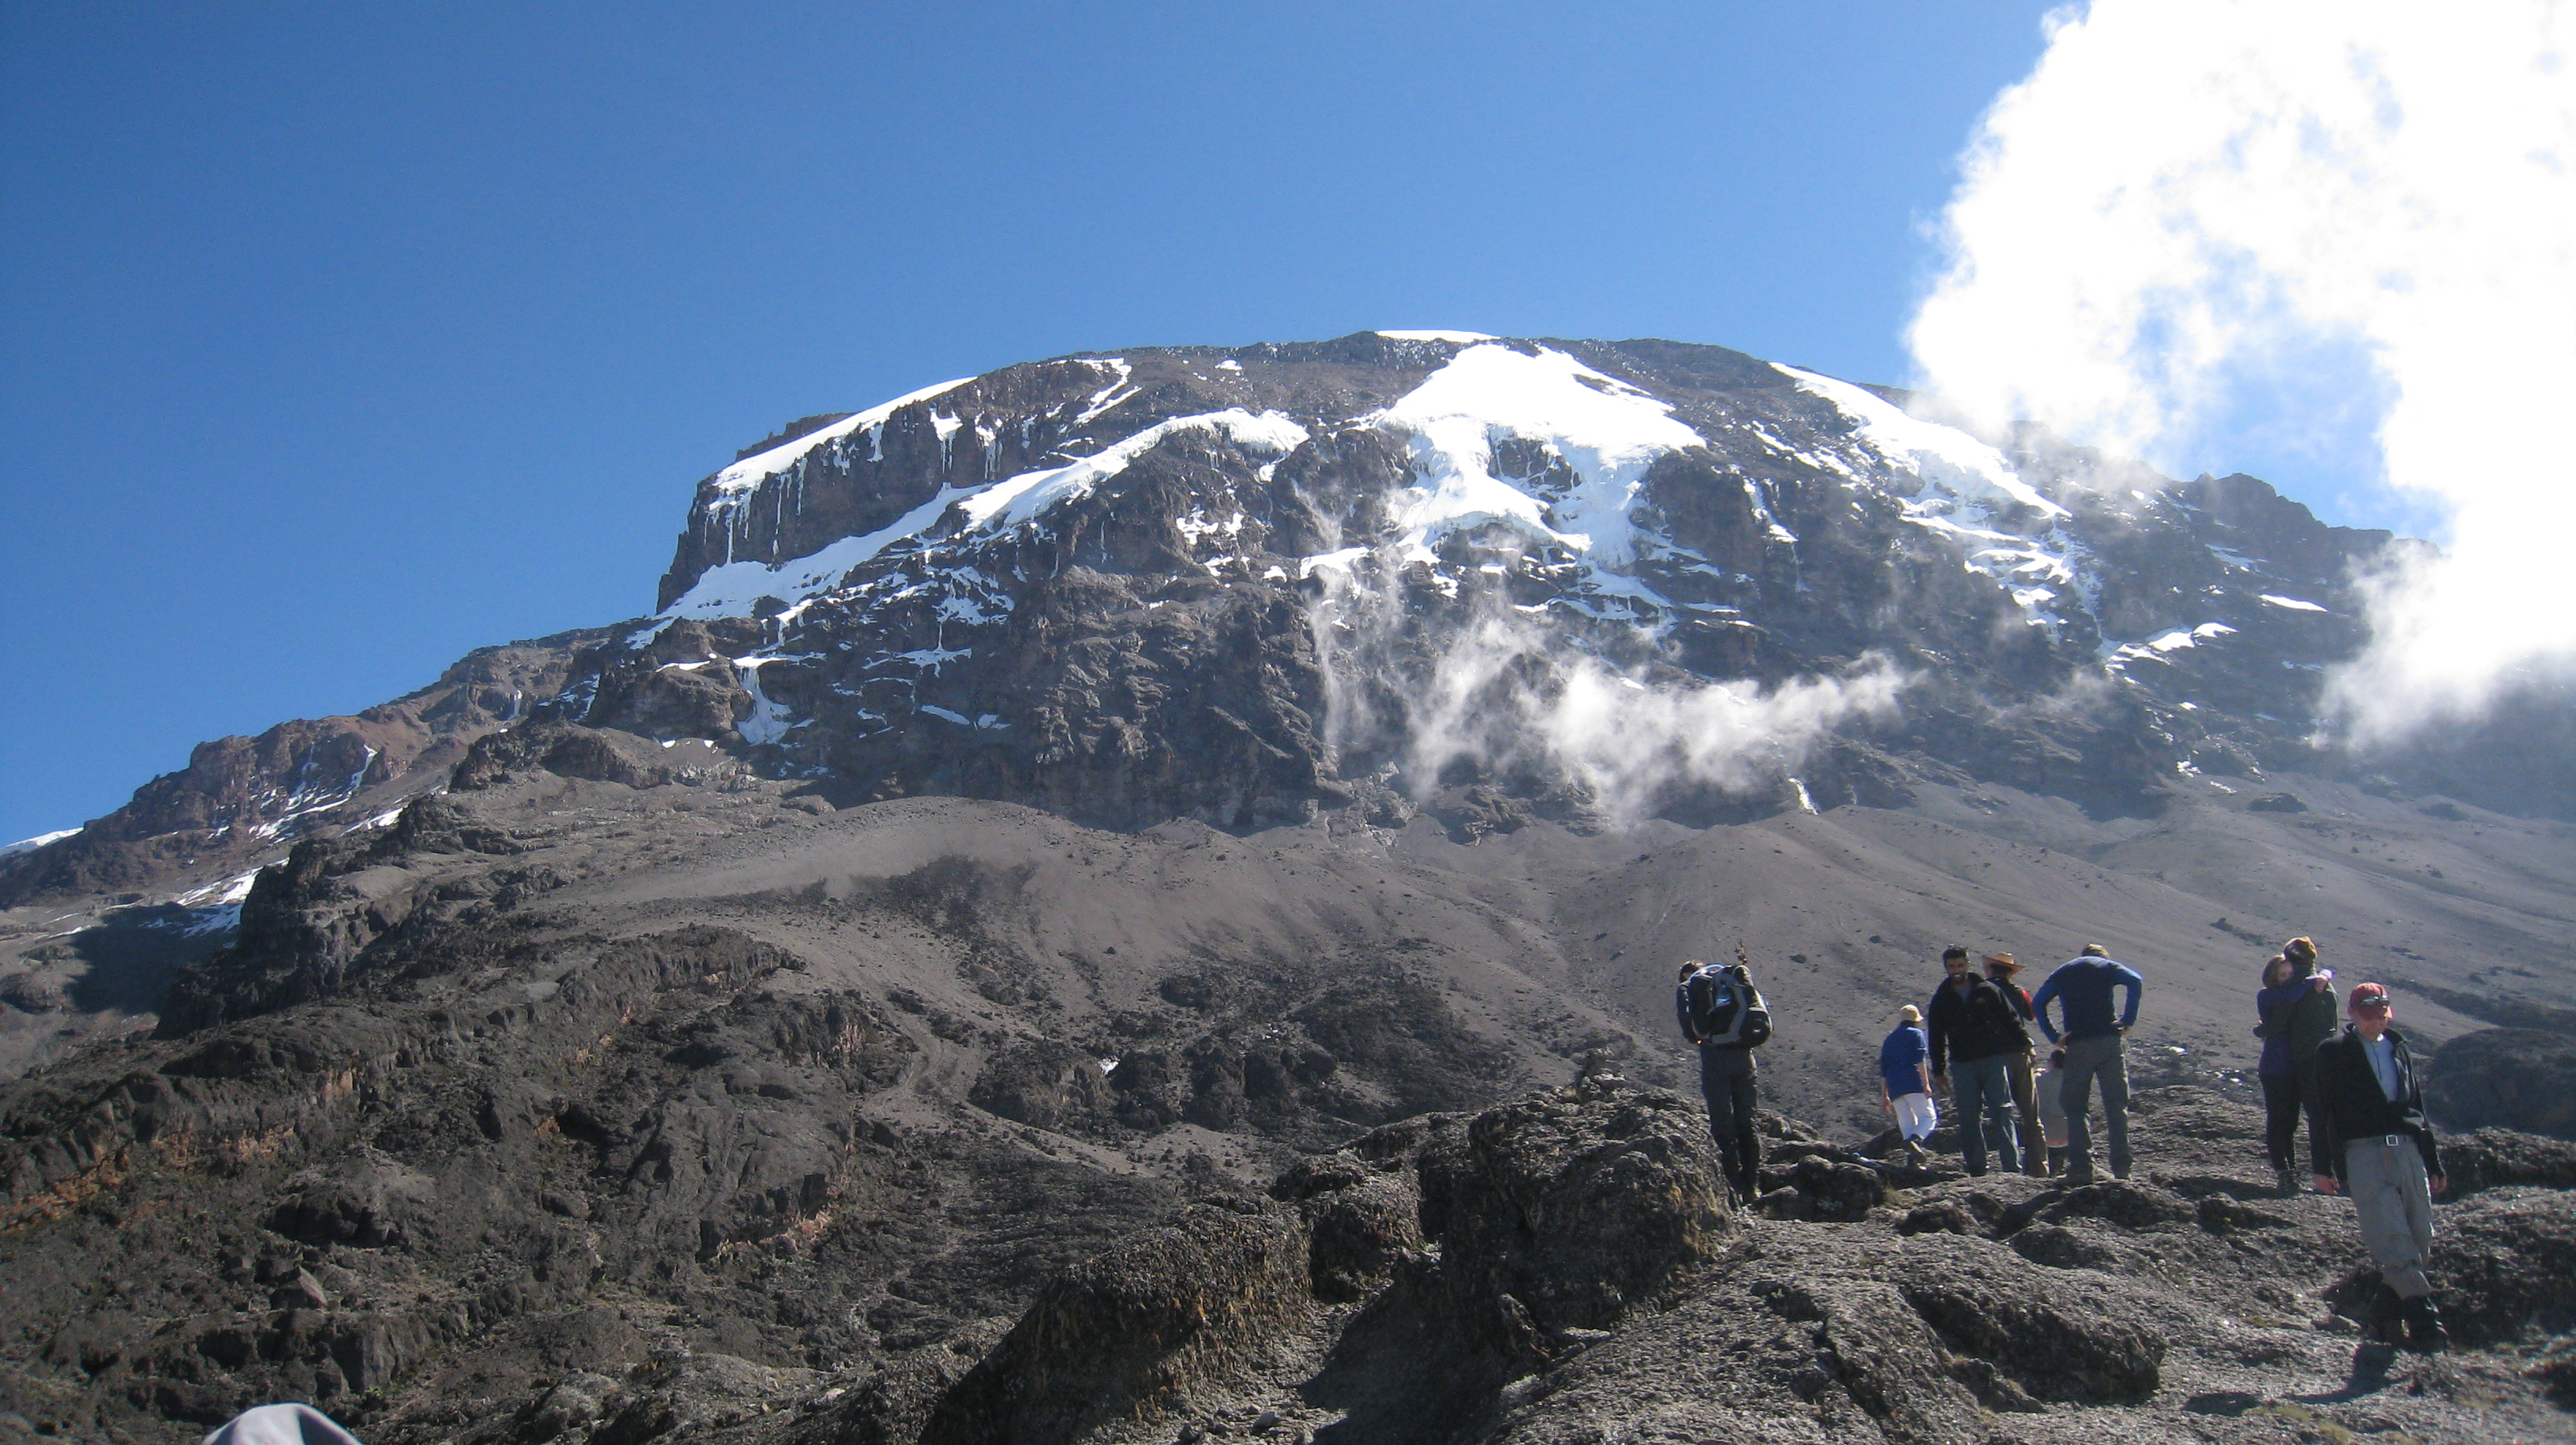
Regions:
M 652 618 L 0 858 L 0 1427 L 2555 1430 L 2568 1321 L 2465 1260 L 2483 1355 L 2347 1368 L 2244 1100 L 2311 932 L 2447 1118 L 2563 1128 L 2566 713 L 2321 750 L 2406 543 L 1899 402 L 1368 332 L 783 428 Z M 1816 1120 L 1749 1216 L 1656 1092 L 1736 940 Z M 1953 940 L 2148 974 L 2154 1187 L 1855 1154 Z M 2563 1272 L 2563 1149 L 2486 1149 L 2460 1239 Z

